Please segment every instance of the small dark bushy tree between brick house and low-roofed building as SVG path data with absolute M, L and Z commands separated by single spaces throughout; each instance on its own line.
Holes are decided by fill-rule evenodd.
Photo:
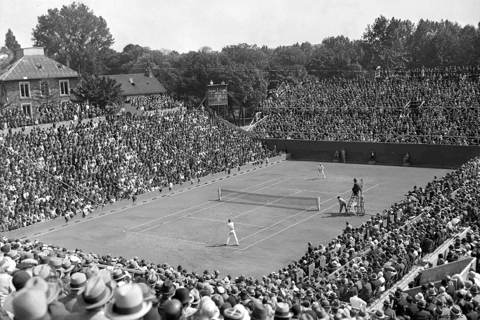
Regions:
M 93 103 L 106 111 L 122 103 L 121 85 L 114 79 L 90 75 L 82 77 L 78 88 L 73 91 L 80 103 Z

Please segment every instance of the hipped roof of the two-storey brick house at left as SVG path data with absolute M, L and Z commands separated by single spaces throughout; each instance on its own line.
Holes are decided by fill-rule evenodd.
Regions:
M 44 55 L 26 55 L 0 73 L 0 80 L 31 80 L 48 78 L 76 78 L 77 71 Z

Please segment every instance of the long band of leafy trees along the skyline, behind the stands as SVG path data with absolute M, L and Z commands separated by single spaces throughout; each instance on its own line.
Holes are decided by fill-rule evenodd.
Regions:
M 229 83 L 229 91 L 246 106 L 265 99 L 268 89 L 285 80 L 355 76 L 382 69 L 441 68 L 480 64 L 480 23 L 461 26 L 449 20 L 417 23 L 380 16 L 361 39 L 344 35 L 269 48 L 238 44 L 213 51 L 179 53 L 129 44 L 122 52 L 110 48 L 114 39 L 105 19 L 86 5 L 72 3 L 49 9 L 32 31 L 34 46 L 60 62 L 70 59 L 82 75 L 141 73 L 150 68 L 177 99 L 198 104 L 210 80 Z M 11 31 L 5 47 L 18 44 Z

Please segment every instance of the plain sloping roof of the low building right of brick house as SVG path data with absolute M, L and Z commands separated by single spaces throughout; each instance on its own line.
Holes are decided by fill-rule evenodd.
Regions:
M 122 85 L 124 96 L 152 95 L 167 92 L 155 77 L 148 77 L 144 73 L 135 73 L 128 75 L 106 76 L 117 80 Z M 130 82 L 131 81 L 133 82 Z

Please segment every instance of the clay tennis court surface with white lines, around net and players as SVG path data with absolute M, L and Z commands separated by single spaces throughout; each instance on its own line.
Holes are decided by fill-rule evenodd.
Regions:
M 186 192 L 84 220 L 35 238 L 84 252 L 167 262 L 175 268 L 221 275 L 260 277 L 303 256 L 306 244 L 326 244 L 346 222 L 357 226 L 404 199 L 413 186 L 450 170 L 288 160 Z M 364 217 L 338 214 L 337 195 L 348 199 L 352 180 L 364 180 Z M 218 201 L 218 188 L 278 195 L 320 197 L 321 208 L 281 208 L 246 201 Z M 224 246 L 232 219 L 240 246 Z M 230 240 L 230 243 L 233 243 Z

